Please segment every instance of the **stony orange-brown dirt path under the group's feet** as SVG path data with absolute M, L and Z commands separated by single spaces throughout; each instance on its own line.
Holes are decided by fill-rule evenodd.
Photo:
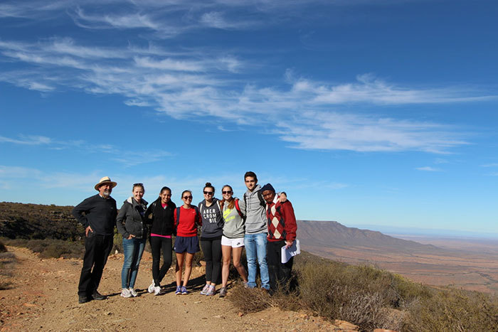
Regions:
M 140 265 L 137 298 L 120 296 L 122 255 L 112 255 L 99 288 L 109 298 L 78 304 L 80 259 L 40 259 L 18 247 L 9 252 L 18 263 L 7 278 L 11 288 L 0 291 L 0 331 L 341 331 L 322 318 L 275 308 L 240 316 L 228 297 L 199 294 L 200 268 L 193 272 L 198 285 L 191 294 L 174 295 L 171 270 L 164 280 L 166 294 L 148 294 L 150 257 Z

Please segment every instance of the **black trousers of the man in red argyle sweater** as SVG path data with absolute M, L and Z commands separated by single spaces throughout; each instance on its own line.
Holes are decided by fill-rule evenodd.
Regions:
M 290 275 L 292 272 L 292 263 L 294 257 L 282 264 L 282 247 L 285 246 L 285 241 L 276 241 L 266 243 L 266 260 L 268 263 L 268 274 L 270 274 L 270 289 L 277 290 L 278 287 L 284 287 L 288 290 Z

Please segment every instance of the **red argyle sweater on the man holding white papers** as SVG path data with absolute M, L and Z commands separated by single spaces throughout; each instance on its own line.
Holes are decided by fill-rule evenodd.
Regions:
M 294 241 L 296 239 L 296 216 L 289 200 L 285 203 L 266 204 L 268 241 Z

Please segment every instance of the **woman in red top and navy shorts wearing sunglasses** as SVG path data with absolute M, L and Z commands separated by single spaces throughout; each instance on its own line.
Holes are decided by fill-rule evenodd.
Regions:
M 184 205 L 174 211 L 174 227 L 176 228 L 176 238 L 174 241 L 174 251 L 176 253 L 176 291 L 175 294 L 189 294 L 186 289 L 192 271 L 194 255 L 201 250 L 197 238 L 197 225 L 201 226 L 201 215 L 198 208 L 192 203 L 192 192 L 181 193 L 181 200 Z M 181 285 L 181 270 L 184 267 L 184 284 Z

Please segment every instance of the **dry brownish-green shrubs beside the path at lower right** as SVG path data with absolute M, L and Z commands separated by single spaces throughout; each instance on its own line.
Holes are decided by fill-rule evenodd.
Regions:
M 362 331 L 498 332 L 498 299 L 486 294 L 440 289 L 410 282 L 371 266 L 353 266 L 304 253 L 295 257 L 297 289 L 269 296 L 235 287 L 229 299 L 243 312 L 277 306 L 341 319 Z

